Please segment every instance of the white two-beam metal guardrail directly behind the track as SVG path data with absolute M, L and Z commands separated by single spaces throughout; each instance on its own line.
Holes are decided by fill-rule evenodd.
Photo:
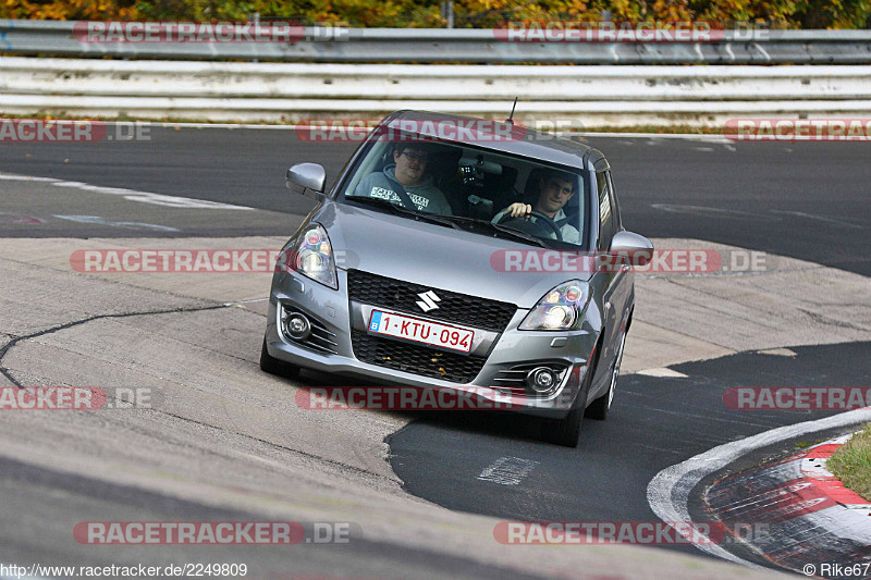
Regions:
M 871 66 L 536 66 L 0 58 L 0 113 L 191 121 L 377 119 L 398 109 L 601 125 L 871 116 Z

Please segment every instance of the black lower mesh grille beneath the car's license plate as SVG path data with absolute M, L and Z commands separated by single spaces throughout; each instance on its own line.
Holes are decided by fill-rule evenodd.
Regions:
M 354 356 L 363 362 L 452 383 L 470 383 L 487 361 L 487 357 L 442 353 L 359 331 L 351 332 L 351 344 Z

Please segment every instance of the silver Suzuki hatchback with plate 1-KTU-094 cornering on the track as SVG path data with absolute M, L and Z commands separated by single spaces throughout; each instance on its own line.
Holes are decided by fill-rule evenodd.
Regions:
M 402 111 L 361 143 L 277 267 L 260 367 L 522 399 L 543 439 L 576 446 L 614 397 L 652 252 L 624 231 L 598 150 L 514 125 Z M 281 259 L 280 259 L 281 261 Z M 488 395 L 489 394 L 489 395 Z

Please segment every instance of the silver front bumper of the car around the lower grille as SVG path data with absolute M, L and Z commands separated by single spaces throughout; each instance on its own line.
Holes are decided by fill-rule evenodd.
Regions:
M 339 289 L 335 291 L 296 272 L 275 273 L 269 297 L 266 332 L 270 356 L 302 368 L 358 378 L 385 386 L 446 387 L 474 392 L 477 397 L 503 404 L 506 397 L 511 397 L 511 393 L 502 388 L 503 384 L 498 380 L 505 375 L 504 371 L 525 363 L 555 363 L 566 367 L 559 387 L 547 396 L 514 397 L 512 400 L 520 402 L 522 405 L 513 407 L 513 410 L 559 418 L 581 405 L 578 393 L 585 382 L 588 357 L 598 338 L 598 331 L 586 321 L 577 331 L 518 331 L 517 326 L 528 312 L 526 309 L 518 309 L 501 333 L 473 328 L 470 330 L 475 331 L 476 337 L 471 354 L 483 357 L 486 361 L 470 381 L 445 381 L 359 360 L 354 355 L 352 332 L 367 332 L 368 314 L 372 307 L 349 301 L 346 272 L 338 270 L 338 277 Z M 280 332 L 280 306 L 302 311 L 311 318 L 321 328 L 321 333 L 330 337 L 328 348 L 300 344 Z M 398 313 L 427 318 L 418 312 Z M 584 400 L 582 405 L 586 406 L 587 403 Z

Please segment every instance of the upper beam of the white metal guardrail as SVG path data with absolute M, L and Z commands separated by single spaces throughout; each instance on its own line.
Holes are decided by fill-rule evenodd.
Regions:
M 850 100 L 871 66 L 452 66 L 0 58 L 0 94 L 471 101 Z M 869 101 L 871 107 L 871 101 Z

